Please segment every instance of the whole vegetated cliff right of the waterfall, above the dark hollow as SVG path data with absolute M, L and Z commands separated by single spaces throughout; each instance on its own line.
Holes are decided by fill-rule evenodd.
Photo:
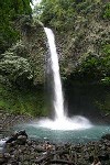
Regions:
M 109 0 L 43 0 L 35 10 L 55 31 L 64 78 L 110 81 Z

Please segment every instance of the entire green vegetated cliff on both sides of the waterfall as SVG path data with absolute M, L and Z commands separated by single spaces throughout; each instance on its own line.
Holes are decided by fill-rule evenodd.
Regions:
M 42 23 L 55 32 L 62 78 L 110 85 L 109 0 L 42 0 L 34 18 L 30 2 L 0 2 L 0 108 L 47 113 L 37 89 L 44 82 L 47 51 Z

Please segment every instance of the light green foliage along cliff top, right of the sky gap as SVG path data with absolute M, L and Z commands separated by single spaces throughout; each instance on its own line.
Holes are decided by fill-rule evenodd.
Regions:
M 78 15 L 86 16 L 101 4 L 103 6 L 102 18 L 110 19 L 110 3 L 101 0 L 43 0 L 35 7 L 34 13 L 45 25 L 58 31 L 67 31 L 73 29 Z

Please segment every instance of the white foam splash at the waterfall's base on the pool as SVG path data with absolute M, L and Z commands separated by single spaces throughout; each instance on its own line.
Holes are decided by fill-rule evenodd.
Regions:
M 61 120 L 42 119 L 37 123 L 32 123 L 33 127 L 46 128 L 50 130 L 85 130 L 90 129 L 90 121 L 81 116 L 74 118 L 63 118 Z

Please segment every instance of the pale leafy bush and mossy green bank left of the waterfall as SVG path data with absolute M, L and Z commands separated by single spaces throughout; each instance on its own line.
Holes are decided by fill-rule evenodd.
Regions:
M 21 42 L 1 54 L 0 109 L 18 114 L 47 114 L 43 87 L 33 85 L 34 68 L 31 61 L 28 48 Z

